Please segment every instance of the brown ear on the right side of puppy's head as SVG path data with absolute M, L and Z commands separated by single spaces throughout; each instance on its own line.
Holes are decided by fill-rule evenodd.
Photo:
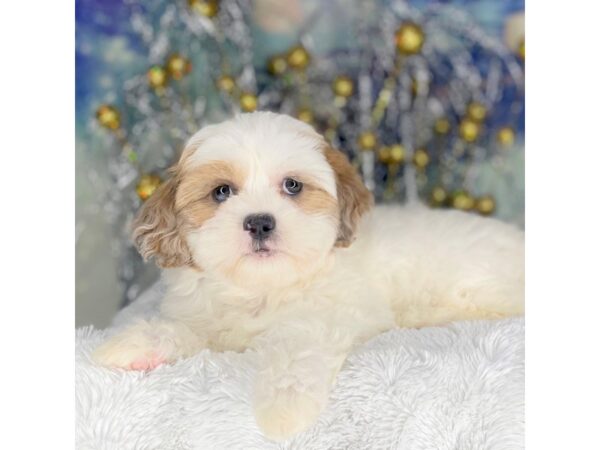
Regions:
M 346 155 L 327 146 L 325 157 L 335 172 L 340 210 L 340 227 L 335 245 L 348 247 L 354 239 L 359 219 L 373 204 L 373 196 Z

